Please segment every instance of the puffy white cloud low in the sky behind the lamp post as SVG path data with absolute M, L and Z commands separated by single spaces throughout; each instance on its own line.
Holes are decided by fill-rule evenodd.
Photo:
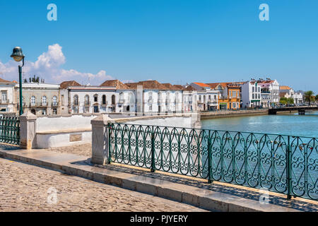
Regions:
M 88 83 L 89 78 L 91 84 L 99 85 L 105 80 L 113 79 L 112 76 L 106 74 L 106 71 L 93 74 L 83 73 L 75 69 L 61 69 L 65 62 L 66 58 L 62 52 L 62 47 L 59 44 L 49 45 L 48 51 L 37 57 L 37 61 L 25 61 L 23 73 L 26 78 L 36 75 L 45 78 L 45 81 L 49 83 L 61 83 L 69 80 Z M 0 61 L 0 76 L 9 81 L 18 81 L 18 64 L 13 60 L 6 64 Z

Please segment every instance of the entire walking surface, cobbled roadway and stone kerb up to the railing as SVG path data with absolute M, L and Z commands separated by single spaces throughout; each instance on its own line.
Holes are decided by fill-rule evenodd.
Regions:
M 20 150 L 1 145 L 1 211 L 311 211 L 317 202 L 290 201 L 256 189 L 112 163 L 90 163 L 90 145 Z M 47 203 L 48 189 L 57 203 Z M 53 190 L 54 190 L 53 189 Z M 136 192 L 138 191 L 138 192 Z

